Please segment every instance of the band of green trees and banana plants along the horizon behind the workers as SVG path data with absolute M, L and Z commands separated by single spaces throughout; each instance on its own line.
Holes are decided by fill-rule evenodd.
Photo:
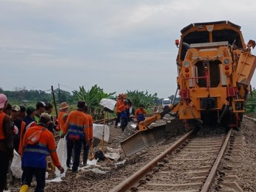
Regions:
M 0 88 L 0 93 L 7 96 L 10 104 L 18 105 L 34 105 L 37 102 L 51 102 L 53 104 L 53 96 L 51 90 L 26 90 L 26 88 L 15 88 L 14 90 L 3 90 Z M 92 107 L 98 106 L 102 98 L 115 99 L 116 93 L 104 93 L 102 88 L 98 85 L 92 86 L 90 90 L 80 87 L 80 90 L 74 90 L 72 93 L 62 90 L 54 90 L 55 101 L 57 105 L 61 102 L 68 102 L 68 104 L 76 104 L 78 99 L 85 100 L 88 105 Z M 158 98 L 157 93 L 149 94 L 147 91 L 127 90 L 127 98 L 131 100 L 136 107 L 139 104 L 144 104 L 146 107 L 153 104 L 161 104 L 163 98 Z M 174 96 L 169 96 L 169 99 L 174 99 Z M 175 99 L 175 103 L 179 102 L 180 98 Z

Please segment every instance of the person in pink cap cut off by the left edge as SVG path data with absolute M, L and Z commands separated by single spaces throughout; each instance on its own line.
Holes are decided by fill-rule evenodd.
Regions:
M 7 107 L 7 96 L 0 93 L 0 191 L 6 186 L 7 172 L 13 160 L 13 129 L 9 115 L 4 113 Z

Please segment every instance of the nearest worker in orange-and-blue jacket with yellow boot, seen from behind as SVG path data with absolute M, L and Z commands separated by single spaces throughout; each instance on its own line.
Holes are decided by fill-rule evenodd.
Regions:
M 29 190 L 33 176 L 37 181 L 35 191 L 44 191 L 46 185 L 46 156 L 51 155 L 54 165 L 64 172 L 60 165 L 59 158 L 55 149 L 54 135 L 47 129 L 51 122 L 51 116 L 42 113 L 38 125 L 26 130 L 23 141 L 23 152 L 21 154 L 21 189 L 25 192 Z

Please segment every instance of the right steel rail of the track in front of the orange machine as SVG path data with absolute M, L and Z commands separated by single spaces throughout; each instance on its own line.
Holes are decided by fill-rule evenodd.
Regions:
M 216 159 L 216 161 L 215 161 L 215 163 L 213 165 L 212 170 L 210 171 L 210 174 L 208 175 L 208 177 L 207 177 L 207 179 L 205 181 L 205 184 L 202 186 L 201 192 L 209 191 L 210 186 L 213 183 L 213 179 L 214 179 L 214 177 L 216 177 L 216 172 L 218 170 L 218 166 L 221 163 L 221 159 L 224 156 L 224 153 L 225 153 L 225 151 L 227 149 L 227 144 L 230 141 L 231 134 L 232 134 L 232 129 L 230 129 L 230 131 L 227 133 L 227 137 L 226 137 L 226 139 L 225 139 L 225 141 L 223 143 L 223 146 L 221 147 L 221 151 L 218 154 L 218 157 L 217 157 L 217 159 Z

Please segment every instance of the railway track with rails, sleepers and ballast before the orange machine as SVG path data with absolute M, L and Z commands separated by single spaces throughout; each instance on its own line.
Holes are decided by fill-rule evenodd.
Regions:
M 209 191 L 231 135 L 188 132 L 111 192 Z

